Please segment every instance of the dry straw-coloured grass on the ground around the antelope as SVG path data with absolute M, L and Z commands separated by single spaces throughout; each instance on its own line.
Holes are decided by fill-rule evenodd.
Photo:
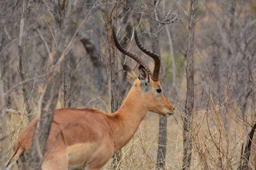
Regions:
M 17 136 L 28 125 L 27 118 L 22 114 L 24 105 L 18 101 L 15 110 L 20 113 L 15 111 L 8 113 L 8 157 L 13 153 L 12 146 Z M 58 106 L 61 107 L 61 103 Z M 195 111 L 191 132 L 194 142 L 191 169 L 237 169 L 239 167 L 241 147 L 243 143 L 246 144 L 246 135 L 250 127 L 247 125 L 246 129 L 245 122 L 237 117 L 238 113 L 238 109 L 231 106 L 224 108 L 212 99 L 209 100 L 205 110 Z M 182 168 L 183 114 L 177 112 L 175 118 L 168 118 L 166 169 Z M 148 113 L 134 138 L 122 148 L 121 169 L 155 169 L 158 120 L 159 115 Z M 254 152 L 255 148 L 253 143 Z M 250 167 L 255 169 L 253 164 L 250 164 Z M 111 160 L 103 169 L 111 169 Z

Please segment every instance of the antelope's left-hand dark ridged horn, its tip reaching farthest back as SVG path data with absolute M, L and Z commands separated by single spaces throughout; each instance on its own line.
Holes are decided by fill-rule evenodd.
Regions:
M 138 55 L 136 55 L 135 53 L 129 52 L 128 50 L 125 50 L 120 43 L 118 42 L 117 38 L 116 38 L 116 31 L 115 31 L 115 27 L 114 25 L 112 26 L 112 31 L 113 31 L 113 39 L 116 45 L 116 48 L 118 48 L 118 50 L 122 53 L 124 53 L 125 55 L 128 55 L 129 57 L 131 57 L 132 59 L 136 60 L 136 62 L 138 62 L 138 64 L 140 64 L 141 66 L 145 67 L 146 71 L 148 72 L 149 76 L 151 76 L 151 71 L 149 69 L 149 67 L 147 66 L 147 64 L 145 63 L 144 60 L 142 60 Z

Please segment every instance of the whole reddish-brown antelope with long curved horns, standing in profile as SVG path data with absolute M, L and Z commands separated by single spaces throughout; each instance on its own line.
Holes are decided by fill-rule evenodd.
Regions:
M 174 113 L 173 104 L 164 96 L 159 82 L 160 57 L 141 45 L 136 31 L 134 36 L 138 47 L 154 59 L 153 74 L 143 59 L 120 45 L 113 26 L 115 46 L 140 64 L 138 76 L 124 65 L 125 77 L 133 85 L 122 106 L 113 114 L 91 108 L 55 110 L 42 162 L 43 170 L 100 169 L 131 140 L 148 111 L 164 117 Z M 14 146 L 15 153 L 7 166 L 11 166 L 21 153 L 28 153 L 36 121 L 34 119 L 20 134 Z

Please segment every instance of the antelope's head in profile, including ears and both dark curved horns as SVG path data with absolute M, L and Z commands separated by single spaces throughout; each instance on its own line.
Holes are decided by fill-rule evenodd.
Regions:
M 141 57 L 125 50 L 120 45 L 116 38 L 115 27 L 113 26 L 113 39 L 118 50 L 140 64 L 138 75 L 134 73 L 129 66 L 124 65 L 125 78 L 133 83 L 132 88 L 135 88 L 136 91 L 139 92 L 139 95 L 136 97 L 140 97 L 141 101 L 143 101 L 143 106 L 145 106 L 148 111 L 158 113 L 164 117 L 169 117 L 174 113 L 174 107 L 173 104 L 164 96 L 163 88 L 159 81 L 159 71 L 161 67 L 160 57 L 141 45 L 136 31 L 134 31 L 134 37 L 136 45 L 138 45 L 138 47 L 149 57 L 154 59 L 154 72 L 151 74 L 149 67 Z

